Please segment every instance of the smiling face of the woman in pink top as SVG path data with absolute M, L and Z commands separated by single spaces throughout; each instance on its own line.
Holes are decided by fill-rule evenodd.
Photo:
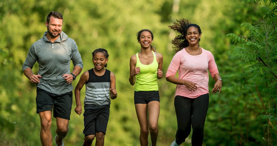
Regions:
M 197 45 L 199 44 L 199 38 L 201 34 L 199 34 L 198 29 L 194 26 L 191 26 L 187 29 L 186 38 L 190 45 Z

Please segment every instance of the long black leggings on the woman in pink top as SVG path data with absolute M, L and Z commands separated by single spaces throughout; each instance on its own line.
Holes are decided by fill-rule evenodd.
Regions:
M 176 96 L 175 111 L 177 116 L 178 130 L 176 143 L 182 144 L 191 133 L 193 146 L 202 146 L 204 137 L 204 124 L 209 106 L 209 94 L 200 95 L 197 98 Z

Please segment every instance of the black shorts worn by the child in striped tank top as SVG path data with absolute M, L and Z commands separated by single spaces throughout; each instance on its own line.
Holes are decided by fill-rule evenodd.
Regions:
M 83 133 L 85 136 L 95 135 L 97 132 L 103 132 L 106 134 L 110 116 L 110 105 L 98 109 L 85 109 L 83 115 L 85 126 Z

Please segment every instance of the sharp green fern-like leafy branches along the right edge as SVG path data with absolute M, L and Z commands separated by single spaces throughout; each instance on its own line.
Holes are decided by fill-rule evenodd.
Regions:
M 255 0 L 245 0 L 244 2 L 257 2 Z M 267 0 L 259 1 L 267 2 Z M 229 33 L 226 36 L 235 44 L 238 44 L 238 49 L 231 53 L 239 56 L 247 61 L 248 69 L 254 69 L 249 77 L 247 84 L 253 84 L 256 88 L 256 94 L 259 96 L 262 106 L 257 102 L 262 113 L 258 119 L 267 120 L 267 124 L 260 124 L 260 126 L 267 126 L 264 130 L 264 139 L 267 144 L 276 144 L 277 133 L 277 114 L 275 111 L 277 91 L 277 31 L 276 31 L 276 0 L 268 1 L 274 8 L 270 10 L 269 7 L 262 7 L 261 10 L 266 13 L 263 18 L 260 18 L 256 25 L 250 23 L 243 23 L 241 27 L 245 28 L 249 33 L 247 36 L 236 35 Z M 242 47 L 241 47 L 242 45 Z M 253 74 L 254 73 L 254 74 Z M 262 85 L 262 86 L 261 86 Z M 261 86 L 261 87 L 259 87 Z M 252 92 L 255 97 L 254 92 Z M 256 100 L 256 99 L 255 99 Z M 257 115 L 257 113 L 255 114 Z M 274 137 L 274 138 L 273 138 Z

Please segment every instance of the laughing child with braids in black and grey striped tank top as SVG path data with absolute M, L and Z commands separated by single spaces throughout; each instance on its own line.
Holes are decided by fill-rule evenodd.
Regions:
M 107 67 L 109 54 L 99 48 L 92 52 L 94 68 L 84 72 L 75 88 L 77 114 L 82 113 L 80 90 L 86 84 L 84 100 L 84 130 L 83 146 L 91 146 L 96 137 L 95 146 L 104 145 L 104 137 L 110 115 L 110 98 L 115 99 L 115 75 Z

